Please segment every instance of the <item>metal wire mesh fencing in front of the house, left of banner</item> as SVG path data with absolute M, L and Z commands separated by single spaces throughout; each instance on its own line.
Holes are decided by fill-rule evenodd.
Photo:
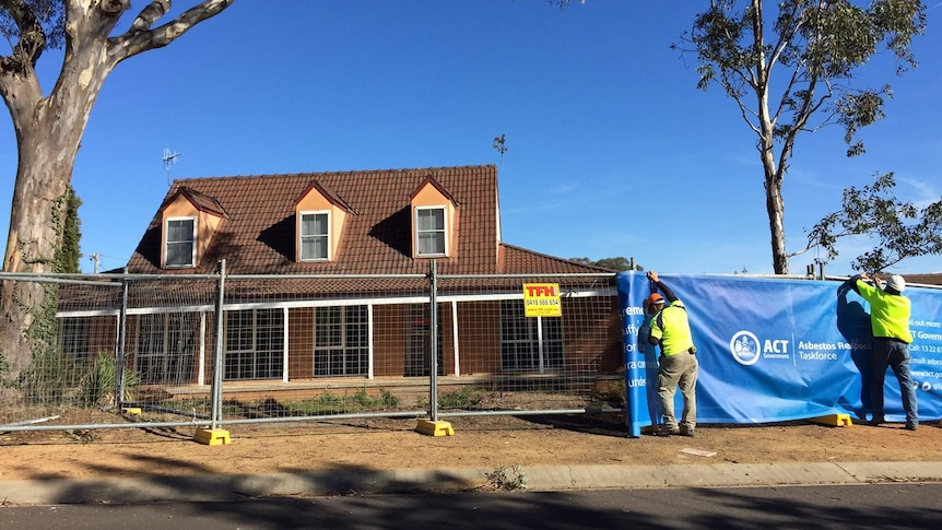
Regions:
M 0 432 L 624 407 L 613 274 L 229 275 L 221 262 L 2 280 L 54 285 L 58 301 L 56 338 L 4 375 Z M 558 287 L 562 317 L 526 316 L 534 283 Z

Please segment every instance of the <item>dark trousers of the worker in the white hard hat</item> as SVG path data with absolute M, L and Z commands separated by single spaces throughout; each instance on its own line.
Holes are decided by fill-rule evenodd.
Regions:
M 909 344 L 874 337 L 870 355 L 870 404 L 873 408 L 873 419 L 883 421 L 883 381 L 886 377 L 886 368 L 890 367 L 893 368 L 893 374 L 899 382 L 906 423 L 916 425 L 919 422 L 919 410 L 916 403 L 912 373 L 909 370 Z

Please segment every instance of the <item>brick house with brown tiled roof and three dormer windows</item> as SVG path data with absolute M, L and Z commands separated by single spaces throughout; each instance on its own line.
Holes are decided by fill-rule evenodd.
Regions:
M 195 275 L 223 260 L 226 382 L 427 380 L 433 322 L 452 380 L 591 385 L 622 366 L 614 271 L 504 243 L 493 165 L 176 180 L 127 266 L 122 354 L 142 382 L 205 391 L 215 281 Z M 525 316 L 528 281 L 560 284 L 562 317 Z M 114 337 L 103 321 L 72 326 Z M 89 342 L 71 348 L 106 346 Z

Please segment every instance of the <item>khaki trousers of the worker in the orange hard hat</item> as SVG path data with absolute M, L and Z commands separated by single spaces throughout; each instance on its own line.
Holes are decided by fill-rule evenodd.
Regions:
M 696 427 L 698 369 L 697 356 L 692 353 L 683 352 L 670 356 L 661 355 L 658 358 L 658 400 L 661 404 L 663 425 L 669 431 L 678 428 L 678 420 L 674 417 L 674 394 L 676 394 L 679 387 L 684 400 L 681 425 L 690 429 Z

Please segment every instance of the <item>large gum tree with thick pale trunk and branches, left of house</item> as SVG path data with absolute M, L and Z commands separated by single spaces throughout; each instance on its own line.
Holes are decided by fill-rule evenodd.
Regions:
M 66 232 L 75 155 L 108 74 L 125 59 L 170 44 L 233 1 L 192 2 L 161 24 L 172 2 L 153 0 L 127 31 L 118 31 L 130 0 L 0 0 L 0 34 L 10 45 L 0 56 L 0 94 L 13 120 L 19 153 L 4 272 L 54 270 Z M 59 47 L 64 50 L 61 69 L 46 94 L 36 64 L 45 51 Z M 55 302 L 48 288 L 33 282 L 4 281 L 0 297 L 0 376 L 9 384 L 36 352 L 50 346 L 54 335 L 36 328 Z

